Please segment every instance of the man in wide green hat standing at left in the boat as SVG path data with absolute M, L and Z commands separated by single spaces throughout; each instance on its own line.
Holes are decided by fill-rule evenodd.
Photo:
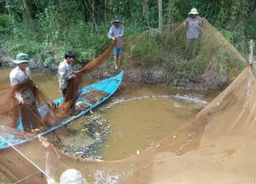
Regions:
M 31 63 L 31 59 L 25 53 L 16 55 L 16 60 L 12 62 L 18 64 L 18 66 L 10 73 L 11 85 L 15 87 L 15 97 L 20 106 L 23 129 L 26 132 L 31 132 L 31 128 L 38 127 L 38 117 L 36 117 L 38 112 L 33 92 L 34 89 L 41 91 L 41 88 L 31 80 L 30 70 L 27 67 L 28 63 Z M 29 114 L 35 114 L 35 119 Z

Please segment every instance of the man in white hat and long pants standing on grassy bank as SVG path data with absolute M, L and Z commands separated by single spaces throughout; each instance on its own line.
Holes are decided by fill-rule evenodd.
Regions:
M 186 27 L 186 61 L 196 58 L 200 28 L 203 25 L 203 19 L 197 16 L 198 12 L 196 8 L 192 8 L 188 14 L 190 14 L 190 17 L 186 18 L 184 22 L 184 26 Z

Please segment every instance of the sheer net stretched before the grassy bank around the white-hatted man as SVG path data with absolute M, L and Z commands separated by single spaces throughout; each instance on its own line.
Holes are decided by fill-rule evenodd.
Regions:
M 190 87 L 190 83 L 192 85 L 200 83 L 204 88 L 201 86 L 198 88 L 206 90 L 226 87 L 225 84 L 233 81 L 244 69 L 246 61 L 238 50 L 204 18 L 203 27 L 199 29 L 201 34 L 198 48 L 195 55 L 190 56 L 188 60 L 186 60 L 186 28 L 183 22 L 179 22 L 162 27 L 162 31 L 150 29 L 137 37 L 132 36 L 129 40 L 125 40 L 125 46 L 129 51 L 124 52 L 125 58 L 129 59 L 127 63 L 134 63 L 139 70 L 146 72 L 145 76 L 148 80 L 156 78 L 159 84 Z M 149 51 L 145 52 L 145 50 Z M 140 62 L 136 63 L 137 60 Z M 147 74 L 149 61 L 150 65 L 156 66 L 153 74 Z M 144 81 L 143 78 L 141 80 Z

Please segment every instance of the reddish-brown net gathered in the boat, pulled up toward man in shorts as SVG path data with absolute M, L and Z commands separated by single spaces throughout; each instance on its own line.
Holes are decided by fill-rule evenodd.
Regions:
M 44 91 L 36 89 L 35 84 L 31 80 L 11 87 L 10 85 L 2 85 L 0 87 L 0 115 L 12 118 L 12 121 L 8 123 L 9 127 L 17 127 L 18 117 L 22 117 L 23 128 L 26 132 L 31 132 L 31 129 L 37 128 L 45 131 L 49 127 L 57 125 L 61 120 L 74 115 L 76 99 L 79 96 L 77 91 L 81 89 L 81 82 L 83 80 L 82 75 L 93 71 L 100 65 L 109 56 L 115 44 L 113 42 L 102 55 L 85 65 L 78 72 L 76 78 L 72 78 L 69 81 L 68 91 L 61 104 L 55 104 L 47 97 Z M 26 89 L 33 91 L 33 95 L 35 96 L 34 104 L 30 105 L 26 102 L 25 104 L 18 104 L 15 98 L 16 92 L 23 92 Z M 42 107 L 41 111 L 43 111 L 42 114 L 44 114 L 44 117 L 40 117 L 40 113 L 38 112 L 39 107 Z

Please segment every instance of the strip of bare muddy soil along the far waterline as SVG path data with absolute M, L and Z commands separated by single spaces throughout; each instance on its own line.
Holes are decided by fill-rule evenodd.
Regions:
M 0 50 L 0 67 L 15 67 L 16 64 L 12 63 L 12 57 L 7 53 Z M 57 74 L 58 63 L 53 63 L 48 67 L 44 67 L 38 59 L 33 59 L 33 62 L 30 64 L 30 70 Z M 74 71 L 80 70 L 83 66 L 81 64 L 74 63 L 72 68 Z M 94 72 L 85 74 L 85 78 L 98 79 L 108 78 L 118 74 L 121 70 L 124 70 L 123 82 L 126 83 L 143 83 L 147 85 L 169 85 L 170 81 L 168 80 L 168 71 L 165 66 L 161 65 L 150 65 L 150 66 L 141 66 L 141 65 L 127 65 L 125 67 L 115 70 L 115 65 L 106 61 L 100 65 Z M 212 71 L 206 71 L 197 78 L 190 80 L 186 83 L 179 84 L 177 87 L 182 89 L 195 89 L 201 91 L 209 91 L 215 89 L 224 89 L 227 87 L 229 81 L 227 78 L 220 78 L 218 74 Z

